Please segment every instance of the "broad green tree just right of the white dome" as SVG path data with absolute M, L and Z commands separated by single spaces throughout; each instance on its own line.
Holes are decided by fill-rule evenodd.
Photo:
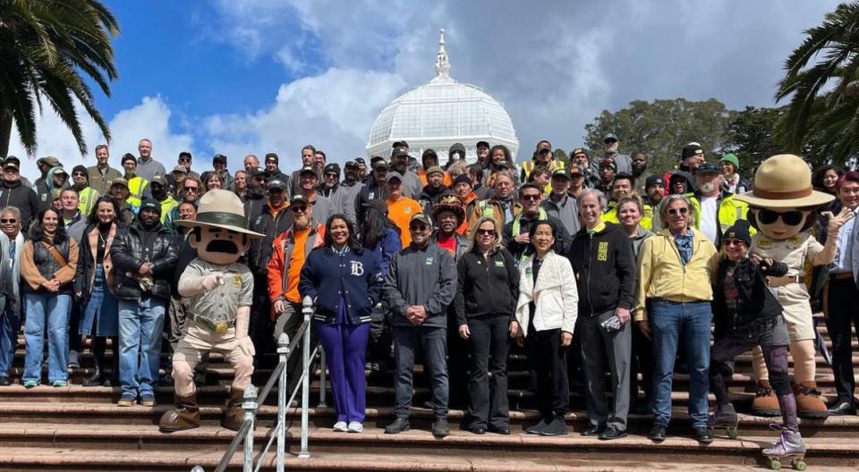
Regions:
M 615 113 L 603 110 L 585 125 L 585 147 L 601 149 L 605 135 L 614 133 L 621 152 L 641 151 L 649 157 L 651 168 L 670 169 L 688 142 L 701 143 L 708 153 L 720 151 L 735 113 L 715 98 L 703 102 L 685 98 L 636 100 Z

